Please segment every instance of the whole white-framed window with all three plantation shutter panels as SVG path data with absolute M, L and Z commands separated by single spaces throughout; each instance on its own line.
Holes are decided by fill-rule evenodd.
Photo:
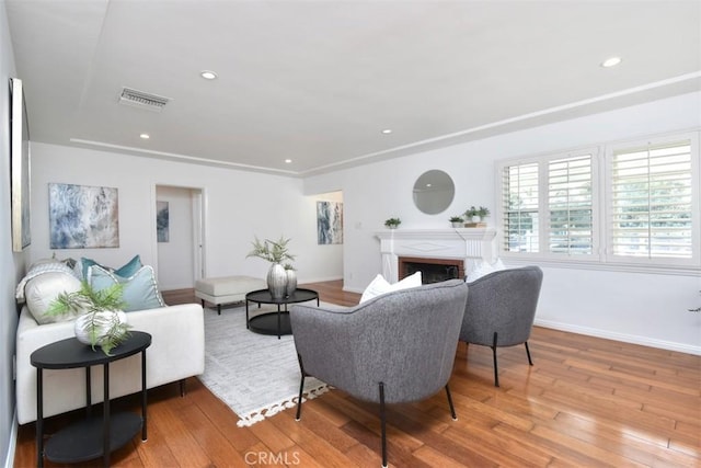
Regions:
M 693 133 L 501 163 L 502 253 L 701 266 L 698 140 Z

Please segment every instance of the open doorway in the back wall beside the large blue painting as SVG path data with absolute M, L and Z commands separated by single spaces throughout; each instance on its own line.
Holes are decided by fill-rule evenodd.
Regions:
M 158 284 L 161 290 L 195 286 L 204 276 L 203 191 L 156 186 Z

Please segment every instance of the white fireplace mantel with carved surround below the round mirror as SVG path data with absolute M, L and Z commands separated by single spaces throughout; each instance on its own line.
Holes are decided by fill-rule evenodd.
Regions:
M 399 258 L 462 259 L 470 272 L 476 261 L 495 259 L 494 228 L 466 229 L 386 229 L 380 239 L 382 275 L 391 283 L 399 278 Z

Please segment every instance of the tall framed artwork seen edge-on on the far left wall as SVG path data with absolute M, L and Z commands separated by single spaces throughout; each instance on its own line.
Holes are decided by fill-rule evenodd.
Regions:
M 32 243 L 30 230 L 30 126 L 22 80 L 10 78 L 10 185 L 12 250 Z

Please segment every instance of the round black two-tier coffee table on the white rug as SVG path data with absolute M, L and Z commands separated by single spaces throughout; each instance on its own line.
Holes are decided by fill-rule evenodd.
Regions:
M 268 289 L 253 290 L 245 295 L 245 326 L 249 330 L 262 334 L 276 334 L 279 340 L 283 334 L 291 334 L 292 328 L 289 322 L 288 304 L 307 303 L 317 299 L 319 307 L 319 293 L 312 289 L 297 288 L 289 296 L 281 299 L 273 299 Z M 266 312 L 249 318 L 249 301 L 277 305 L 277 312 Z

